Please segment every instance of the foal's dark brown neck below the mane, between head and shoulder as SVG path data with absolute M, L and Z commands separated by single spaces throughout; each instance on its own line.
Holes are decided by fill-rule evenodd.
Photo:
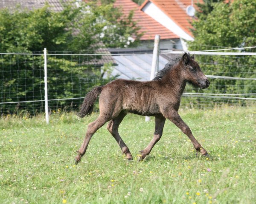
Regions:
M 183 94 L 183 91 L 186 86 L 186 79 L 181 74 L 180 65 L 175 65 L 170 71 L 169 74 L 166 74 L 165 81 L 169 85 L 169 88 L 176 90 L 178 96 Z

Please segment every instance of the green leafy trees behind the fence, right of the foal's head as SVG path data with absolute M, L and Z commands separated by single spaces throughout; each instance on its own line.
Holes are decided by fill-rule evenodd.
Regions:
M 208 3 L 210 1 L 207 1 Z M 188 42 L 190 50 L 250 47 L 256 45 L 256 1 L 222 1 L 199 7 L 198 20 L 192 22 L 195 40 Z M 207 45 L 207 46 L 204 46 Z M 240 50 L 241 52 L 248 51 Z M 250 49 L 255 52 L 256 49 Z M 236 52 L 236 51 L 234 51 Z M 206 74 L 256 78 L 255 56 L 197 56 Z M 212 79 L 215 93 L 255 93 L 255 80 Z M 247 97 L 247 96 L 245 96 Z

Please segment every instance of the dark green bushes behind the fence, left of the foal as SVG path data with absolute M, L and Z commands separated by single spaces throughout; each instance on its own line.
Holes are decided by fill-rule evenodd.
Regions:
M 132 13 L 125 17 L 113 3 L 99 1 L 64 4 L 63 11 L 54 12 L 46 5 L 35 10 L 0 10 L 0 52 L 42 53 L 53 51 L 93 54 L 101 47 L 135 46 L 139 42 L 139 28 L 132 21 Z M 39 52 L 38 52 L 39 51 Z M 69 53 L 69 52 L 66 52 Z M 99 67 L 93 63 L 100 56 L 48 56 L 49 99 L 82 97 L 92 86 L 106 83 Z M 0 102 L 42 100 L 44 97 L 44 59 L 36 55 L 8 55 L 0 58 L 3 76 Z M 81 84 L 82 83 L 82 84 Z M 71 91 L 70 91 L 71 90 Z M 77 101 L 77 103 L 80 103 Z M 70 102 L 50 102 L 65 105 Z M 36 109 L 43 103 L 17 104 L 16 109 Z M 0 112 L 15 110 L 3 105 Z

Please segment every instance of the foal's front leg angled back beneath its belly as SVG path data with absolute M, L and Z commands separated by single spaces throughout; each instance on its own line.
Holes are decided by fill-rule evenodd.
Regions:
M 163 134 L 163 126 L 166 119 L 164 117 L 155 117 L 155 131 L 154 131 L 154 137 L 151 140 L 151 142 L 148 144 L 148 146 L 140 151 L 140 160 L 145 159 L 145 156 L 147 156 L 154 145 L 160 140 L 162 134 Z

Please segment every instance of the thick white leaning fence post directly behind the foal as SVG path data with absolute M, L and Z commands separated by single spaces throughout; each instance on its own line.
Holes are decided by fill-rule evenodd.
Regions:
M 153 58 L 152 58 L 152 64 L 151 64 L 150 80 L 154 79 L 156 71 L 158 71 L 159 42 L 160 42 L 160 35 L 156 35 L 154 40 L 154 50 L 153 50 Z M 148 122 L 149 120 L 150 120 L 150 117 L 146 116 L 145 121 Z

